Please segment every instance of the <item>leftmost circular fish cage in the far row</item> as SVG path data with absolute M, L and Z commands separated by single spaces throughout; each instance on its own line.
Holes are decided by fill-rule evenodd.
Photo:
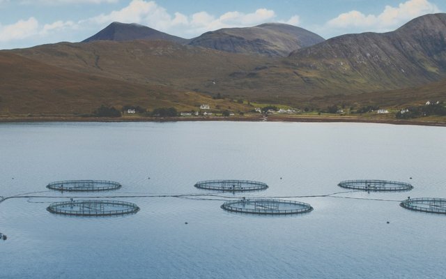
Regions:
M 70 192 L 107 191 L 121 188 L 121 184 L 106 180 L 66 180 L 55 181 L 47 185 L 48 189 Z

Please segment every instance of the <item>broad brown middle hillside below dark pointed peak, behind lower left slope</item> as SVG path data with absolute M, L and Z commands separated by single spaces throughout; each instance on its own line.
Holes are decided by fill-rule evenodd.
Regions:
M 248 70 L 258 63 L 268 63 L 268 58 L 162 40 L 57 43 L 13 53 L 79 73 L 137 84 L 162 84 L 178 90 L 213 89 L 220 77 L 234 70 Z

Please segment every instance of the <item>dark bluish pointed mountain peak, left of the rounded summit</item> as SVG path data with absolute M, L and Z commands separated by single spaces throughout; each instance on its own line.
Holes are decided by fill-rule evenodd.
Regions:
M 169 40 L 174 43 L 187 43 L 189 40 L 145 27 L 140 24 L 113 22 L 95 35 L 82 41 L 88 43 L 95 40 Z

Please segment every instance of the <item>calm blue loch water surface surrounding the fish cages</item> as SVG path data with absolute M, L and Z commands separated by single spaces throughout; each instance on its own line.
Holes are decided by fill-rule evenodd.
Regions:
M 446 197 L 445 140 L 445 128 L 363 123 L 3 123 L 0 196 L 40 197 L 0 203 L 8 235 L 0 278 L 445 278 L 446 216 L 398 202 Z M 116 198 L 139 205 L 131 216 L 54 216 L 46 207 L 70 194 L 45 186 L 67 179 L 123 184 L 77 194 L 86 197 L 167 197 Z M 193 187 L 208 179 L 270 188 L 233 195 Z M 415 188 L 339 193 L 346 179 Z M 206 193 L 217 196 L 194 196 Z M 178 194 L 190 196 L 169 197 Z M 288 197 L 314 211 L 220 209 L 243 196 Z

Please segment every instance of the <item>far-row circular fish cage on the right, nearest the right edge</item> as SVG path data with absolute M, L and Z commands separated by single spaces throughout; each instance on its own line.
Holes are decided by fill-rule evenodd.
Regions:
M 339 182 L 337 186 L 353 190 L 372 192 L 399 192 L 413 189 L 413 186 L 410 183 L 387 180 L 346 180 Z

